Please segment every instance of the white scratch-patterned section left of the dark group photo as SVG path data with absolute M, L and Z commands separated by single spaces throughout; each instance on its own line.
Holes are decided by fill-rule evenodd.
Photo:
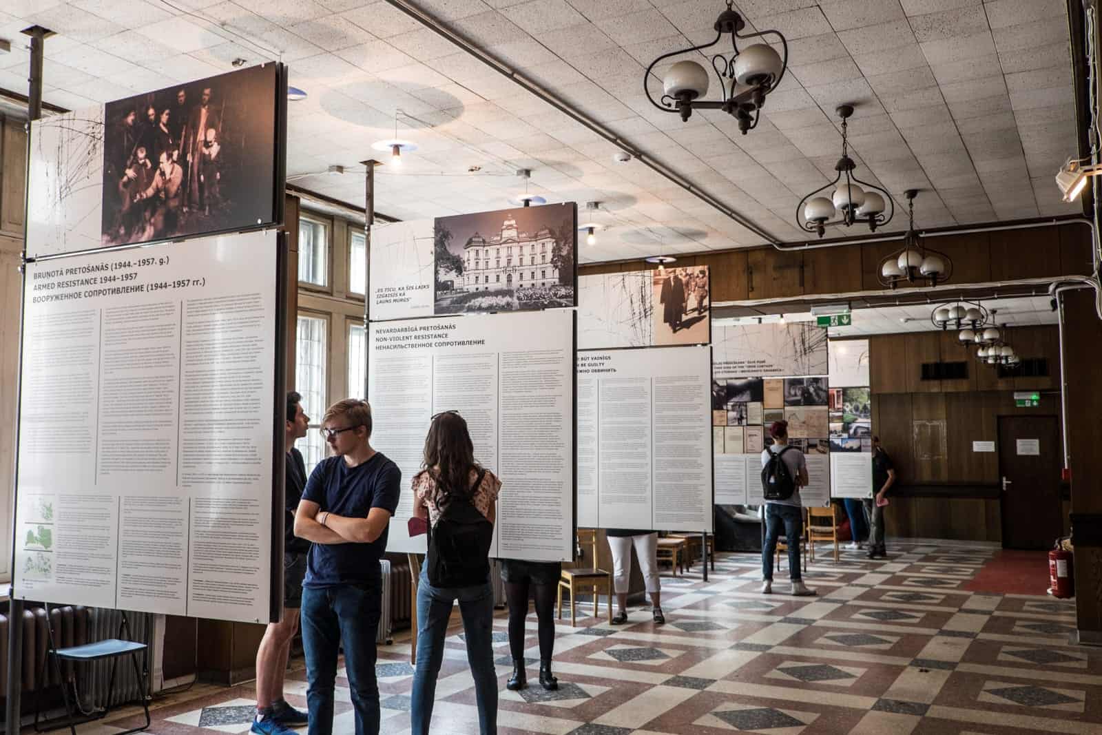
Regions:
M 104 106 L 31 122 L 26 256 L 100 246 Z

